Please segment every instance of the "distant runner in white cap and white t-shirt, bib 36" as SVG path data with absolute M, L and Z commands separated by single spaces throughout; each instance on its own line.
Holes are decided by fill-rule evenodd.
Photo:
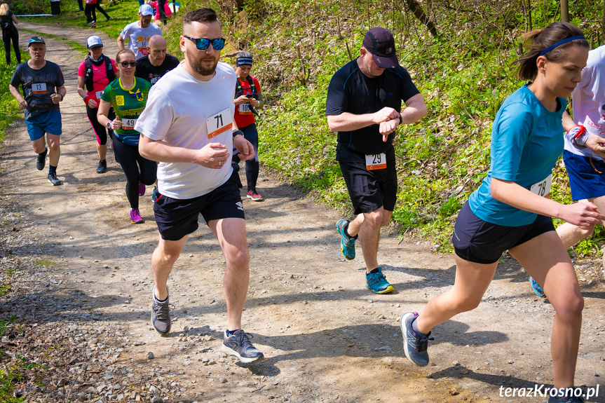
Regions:
M 149 55 L 149 38 L 161 35 L 162 30 L 151 24 L 154 9 L 149 4 L 139 7 L 139 20 L 132 22 L 122 29 L 118 36 L 118 48 L 124 50 L 124 41 L 128 39 L 128 48 L 135 53 L 135 60 Z

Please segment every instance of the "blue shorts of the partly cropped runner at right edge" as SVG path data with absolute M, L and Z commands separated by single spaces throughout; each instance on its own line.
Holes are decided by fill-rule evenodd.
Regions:
M 563 151 L 563 160 L 573 200 L 605 196 L 605 163 L 602 160 L 592 158 L 593 168 L 589 157 L 578 156 L 567 150 Z M 599 174 L 597 170 L 602 173 Z

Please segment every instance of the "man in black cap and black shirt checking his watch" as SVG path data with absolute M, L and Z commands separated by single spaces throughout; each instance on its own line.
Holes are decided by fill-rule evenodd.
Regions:
M 416 123 L 426 113 L 422 95 L 397 61 L 395 39 L 388 29 L 370 29 L 359 57 L 339 69 L 329 83 L 327 123 L 338 132 L 337 160 L 357 214 L 353 221 L 337 223 L 341 251 L 346 259 L 355 259 L 359 235 L 366 287 L 376 294 L 393 291 L 376 255 L 380 228 L 390 221 L 397 198 L 395 129 Z

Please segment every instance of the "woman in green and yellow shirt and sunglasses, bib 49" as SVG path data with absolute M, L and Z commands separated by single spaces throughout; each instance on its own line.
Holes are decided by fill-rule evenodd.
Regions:
M 114 153 L 126 175 L 126 197 L 130 203 L 130 222 L 144 222 L 139 212 L 139 196 L 145 193 L 145 185 L 156 182 L 157 164 L 143 158 L 139 153 L 139 132 L 135 124 L 145 104 L 151 83 L 135 77 L 137 62 L 132 50 L 120 50 L 116 55 L 120 78 L 111 81 L 101 95 L 97 120 L 108 129 L 114 130 Z M 107 115 L 113 107 L 116 118 Z

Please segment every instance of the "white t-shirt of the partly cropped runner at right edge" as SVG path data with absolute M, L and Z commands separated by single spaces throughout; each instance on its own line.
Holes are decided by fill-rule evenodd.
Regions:
M 588 53 L 582 82 L 573 90 L 573 121 L 582 123 L 591 135 L 605 138 L 605 45 Z M 567 136 L 565 149 L 580 156 L 590 156 L 590 149 L 578 149 Z M 595 153 L 592 153 L 592 159 L 603 160 Z

